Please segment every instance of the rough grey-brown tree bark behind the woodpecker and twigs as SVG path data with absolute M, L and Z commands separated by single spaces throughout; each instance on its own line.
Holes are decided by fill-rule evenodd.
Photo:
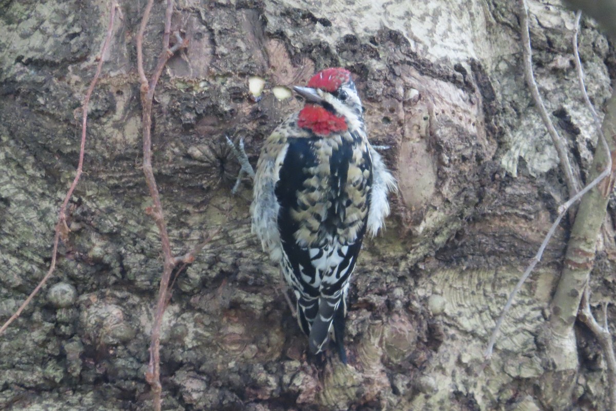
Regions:
M 120 2 L 55 276 L 0 336 L 0 409 L 151 407 L 144 372 L 162 264 L 140 169 L 135 35 L 144 6 Z M 164 7 L 155 2 L 146 30 L 148 73 Z M 78 161 L 74 110 L 109 11 L 106 1 L 0 0 L 0 322 L 47 270 Z M 540 92 L 585 180 L 596 134 L 570 57 L 573 12 L 530 1 L 529 13 Z M 570 222 L 482 368 L 508 293 L 567 198 L 525 86 L 516 15 L 506 0 L 176 1 L 172 30 L 189 43 L 156 89 L 153 167 L 174 255 L 221 231 L 174 283 L 161 338 L 163 409 L 555 409 L 545 391 L 558 388 L 542 385 L 552 368 L 538 336 Z M 614 49 L 588 19 L 580 54 L 601 108 Z M 250 234 L 249 180 L 230 193 L 238 165 L 224 140 L 243 137 L 256 163 L 264 137 L 301 104 L 279 102 L 272 87 L 338 65 L 354 73 L 371 140 L 391 146 L 384 156 L 400 187 L 386 233 L 365 244 L 355 271 L 349 367 L 306 357 L 277 268 Z M 258 101 L 248 92 L 253 75 L 266 81 Z M 610 201 L 593 303 L 616 296 Z M 584 326 L 575 332 L 578 367 L 559 378 L 573 387 L 573 408 L 604 409 L 596 341 Z

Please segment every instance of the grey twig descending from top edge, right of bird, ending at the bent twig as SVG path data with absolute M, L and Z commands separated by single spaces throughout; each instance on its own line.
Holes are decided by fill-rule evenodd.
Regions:
M 539 94 L 537 82 L 535 81 L 535 76 L 533 75 L 532 50 L 530 48 L 529 35 L 529 17 L 527 14 L 526 1 L 519 0 L 519 5 L 522 34 L 522 55 L 524 57 L 524 76 L 526 78 L 526 83 L 529 86 L 530 94 L 532 94 L 535 105 L 537 105 L 537 109 L 541 115 L 541 120 L 543 120 L 546 128 L 548 128 L 549 136 L 552 138 L 554 147 L 558 152 L 558 157 L 561 161 L 561 169 L 565 176 L 567 187 L 569 188 L 569 197 L 573 197 L 573 195 L 580 190 L 580 184 L 577 178 L 573 175 L 573 169 L 571 168 L 571 163 L 569 162 L 569 155 L 567 155 L 567 147 L 565 147 L 561 136 L 559 136 L 556 128 L 554 128 L 554 124 L 549 118 L 548 111 L 546 110 L 545 105 L 543 105 L 543 99 L 541 99 L 541 95 Z

